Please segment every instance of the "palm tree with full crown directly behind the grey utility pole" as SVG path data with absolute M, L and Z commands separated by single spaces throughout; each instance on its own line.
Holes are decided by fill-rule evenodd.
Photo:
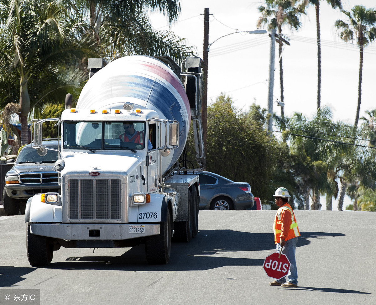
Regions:
M 265 0 L 265 6 L 259 6 L 261 13 L 257 21 L 257 27 L 268 24 L 268 30 L 278 29 L 282 34 L 282 26 L 287 24 L 291 29 L 298 30 L 302 23 L 299 21 L 300 14 L 304 14 L 302 6 L 295 6 L 296 0 Z M 282 68 L 282 42 L 279 43 L 279 81 L 280 99 L 284 102 L 283 68 Z M 283 105 L 283 104 L 282 104 Z M 284 117 L 284 107 L 281 107 L 281 117 Z

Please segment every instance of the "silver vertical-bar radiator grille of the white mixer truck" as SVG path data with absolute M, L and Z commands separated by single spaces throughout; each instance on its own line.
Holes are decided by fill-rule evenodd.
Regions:
M 69 179 L 70 219 L 120 219 L 120 179 Z

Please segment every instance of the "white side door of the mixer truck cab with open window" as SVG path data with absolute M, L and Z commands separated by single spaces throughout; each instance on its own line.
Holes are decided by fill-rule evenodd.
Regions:
M 146 145 L 150 142 L 153 149 L 147 153 L 147 190 L 149 193 L 155 193 L 161 183 L 161 154 L 159 153 L 160 146 L 160 127 L 158 122 L 149 124 L 149 132 L 147 133 Z

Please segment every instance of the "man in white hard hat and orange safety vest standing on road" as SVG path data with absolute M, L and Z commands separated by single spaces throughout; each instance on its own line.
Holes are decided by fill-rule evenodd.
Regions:
M 282 248 L 282 253 L 287 256 L 291 266 L 287 279 L 284 277 L 270 282 L 269 285 L 293 288 L 298 286 L 295 250 L 300 232 L 293 209 L 288 204 L 288 198 L 290 197 L 288 190 L 284 187 L 277 188 L 273 196 L 275 197 L 276 205 L 279 207 L 273 225 L 274 243 L 277 244 L 278 253 Z

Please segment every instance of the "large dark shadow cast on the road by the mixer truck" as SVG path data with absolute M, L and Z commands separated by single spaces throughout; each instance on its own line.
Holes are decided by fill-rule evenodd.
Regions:
M 301 232 L 301 235 L 298 247 L 309 244 L 311 238 L 335 237 L 344 234 Z M 69 257 L 65 261 L 52 262 L 49 268 L 150 272 L 154 270 L 209 270 L 223 266 L 262 266 L 264 258 L 260 259 L 259 253 L 255 251 L 273 251 L 274 249 L 273 233 L 252 233 L 228 229 L 201 230 L 190 243 L 172 244 L 171 260 L 167 265 L 149 265 L 144 245 L 141 244 L 126 250 L 120 256 Z

